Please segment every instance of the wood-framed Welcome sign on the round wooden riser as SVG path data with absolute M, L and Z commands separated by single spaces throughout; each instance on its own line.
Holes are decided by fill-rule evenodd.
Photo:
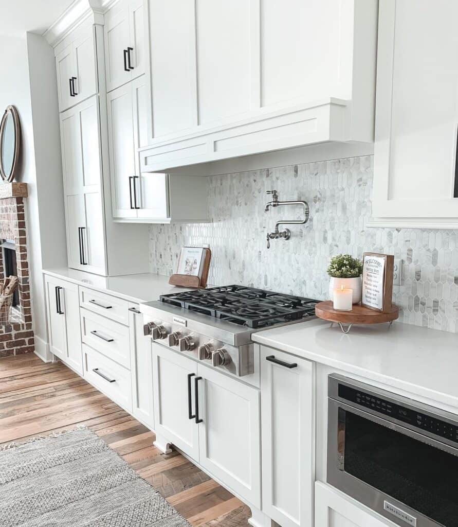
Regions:
M 378 252 L 363 255 L 361 305 L 387 313 L 393 295 L 394 256 Z

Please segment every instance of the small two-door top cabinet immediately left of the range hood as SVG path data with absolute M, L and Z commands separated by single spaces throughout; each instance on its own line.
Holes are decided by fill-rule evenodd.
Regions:
M 114 90 L 145 73 L 143 0 L 121 0 L 105 13 L 106 90 Z

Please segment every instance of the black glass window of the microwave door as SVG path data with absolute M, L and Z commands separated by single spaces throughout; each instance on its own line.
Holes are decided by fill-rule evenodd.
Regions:
M 341 470 L 439 524 L 458 527 L 458 456 L 366 415 L 338 409 Z

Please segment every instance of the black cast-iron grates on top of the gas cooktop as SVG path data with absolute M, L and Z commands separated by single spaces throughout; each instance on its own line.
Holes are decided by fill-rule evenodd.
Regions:
M 319 301 L 236 285 L 161 295 L 160 300 L 248 328 L 265 328 L 312 317 Z

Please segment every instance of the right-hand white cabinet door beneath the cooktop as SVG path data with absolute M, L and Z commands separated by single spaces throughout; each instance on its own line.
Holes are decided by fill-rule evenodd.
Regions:
M 199 377 L 200 464 L 261 508 L 259 391 L 201 364 Z

